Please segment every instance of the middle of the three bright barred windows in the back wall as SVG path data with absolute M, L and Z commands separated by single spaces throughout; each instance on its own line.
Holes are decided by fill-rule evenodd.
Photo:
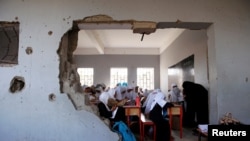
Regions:
M 115 87 L 117 83 L 127 82 L 127 68 L 111 68 L 110 70 L 110 86 Z

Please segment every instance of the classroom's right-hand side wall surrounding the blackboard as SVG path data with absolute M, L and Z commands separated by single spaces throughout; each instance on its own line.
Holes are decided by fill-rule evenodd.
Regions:
M 160 55 L 161 78 L 166 78 L 161 79 L 161 89 L 165 93 L 171 86 L 168 68 L 191 55 L 194 55 L 194 82 L 209 90 L 206 30 L 186 30 Z M 181 90 L 182 83 L 178 85 Z

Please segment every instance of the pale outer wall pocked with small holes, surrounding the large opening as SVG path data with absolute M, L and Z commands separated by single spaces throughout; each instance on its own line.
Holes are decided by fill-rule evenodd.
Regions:
M 115 134 L 107 134 L 108 129 L 94 115 L 74 111 L 67 96 L 59 93 L 56 50 L 60 39 L 73 20 L 96 14 L 116 20 L 214 23 L 207 31 L 211 104 L 217 105 L 213 108 L 218 111 L 213 113 L 213 122 L 232 112 L 242 122 L 250 123 L 248 0 L 1 0 L 0 20 L 17 18 L 21 23 L 19 64 L 0 69 L 3 140 L 117 140 Z M 51 36 L 49 31 L 53 32 Z M 29 46 L 32 55 L 25 54 Z M 26 86 L 13 95 L 8 88 L 16 75 L 25 78 Z M 56 102 L 48 102 L 50 93 L 56 94 Z

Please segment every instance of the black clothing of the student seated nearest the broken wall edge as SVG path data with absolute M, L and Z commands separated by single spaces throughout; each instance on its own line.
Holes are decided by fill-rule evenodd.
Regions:
M 98 109 L 101 117 L 108 118 L 110 121 L 123 121 L 126 123 L 125 109 L 118 107 L 115 117 L 112 119 L 112 111 L 109 111 L 105 104 L 102 102 L 98 103 Z

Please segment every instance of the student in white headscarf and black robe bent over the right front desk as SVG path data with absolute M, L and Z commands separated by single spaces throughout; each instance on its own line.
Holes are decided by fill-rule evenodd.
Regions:
M 152 98 L 149 119 L 151 119 L 156 125 L 156 141 L 170 141 L 171 130 L 167 117 L 167 108 L 173 106 L 173 104 L 168 103 L 165 100 L 165 94 L 159 89 Z

